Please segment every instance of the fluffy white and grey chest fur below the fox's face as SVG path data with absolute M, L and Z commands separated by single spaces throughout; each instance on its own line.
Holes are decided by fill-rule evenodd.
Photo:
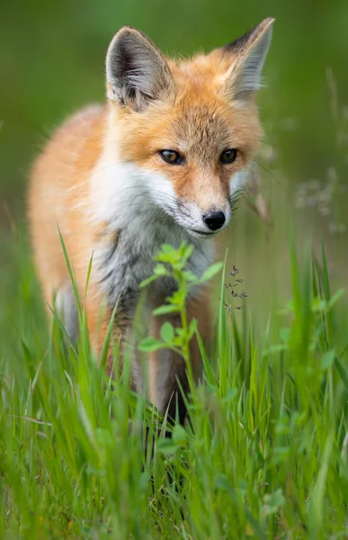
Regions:
M 111 305 L 128 296 L 132 308 L 138 284 L 152 274 L 153 257 L 165 243 L 178 248 L 185 240 L 194 245 L 187 267 L 195 275 L 200 276 L 212 261 L 211 241 L 193 238 L 166 213 L 164 208 L 170 212 L 174 204 L 167 183 L 159 175 L 130 165 L 105 166 L 91 178 L 93 219 L 118 231 L 113 245 L 101 242 L 94 247 L 97 279 Z M 172 292 L 173 284 L 167 280 L 156 284 L 158 300 L 164 301 Z

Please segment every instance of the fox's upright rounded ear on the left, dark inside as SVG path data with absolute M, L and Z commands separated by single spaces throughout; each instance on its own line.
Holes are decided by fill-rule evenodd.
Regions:
M 106 55 L 107 94 L 123 106 L 141 111 L 153 100 L 168 99 L 174 80 L 154 43 L 125 26 L 113 38 Z

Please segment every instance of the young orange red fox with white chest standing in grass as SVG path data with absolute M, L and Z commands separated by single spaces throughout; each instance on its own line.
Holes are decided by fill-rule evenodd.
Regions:
M 34 163 L 29 225 L 43 296 L 50 305 L 56 296 L 74 338 L 76 300 L 60 231 L 96 354 L 116 305 L 113 338 L 127 341 L 138 285 L 151 275 L 162 244 L 193 244 L 188 268 L 195 275 L 213 261 L 212 240 L 228 226 L 262 136 L 254 96 L 262 85 L 272 23 L 265 19 L 227 46 L 180 62 L 165 58 L 141 31 L 121 28 L 106 56 L 107 103 L 74 114 Z M 155 337 L 165 318 L 151 319 L 150 313 L 173 292 L 174 284 L 164 278 L 148 293 Z M 205 288 L 188 298 L 187 312 L 209 341 Z M 174 316 L 166 320 L 179 324 Z M 198 374 L 194 340 L 191 356 Z M 107 371 L 112 372 L 112 354 Z M 148 373 L 149 399 L 173 414 L 178 381 L 187 391 L 183 359 L 161 350 L 150 355 Z M 144 384 L 135 355 L 132 385 L 144 392 Z

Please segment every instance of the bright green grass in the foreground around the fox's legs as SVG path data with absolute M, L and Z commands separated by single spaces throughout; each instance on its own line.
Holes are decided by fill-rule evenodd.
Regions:
M 75 349 L 57 320 L 48 337 L 27 248 L 7 253 L 1 538 L 347 537 L 347 314 L 324 249 L 299 262 L 290 242 L 292 299 L 260 335 L 245 308 L 221 305 L 191 423 L 172 438 L 107 381 L 84 328 Z

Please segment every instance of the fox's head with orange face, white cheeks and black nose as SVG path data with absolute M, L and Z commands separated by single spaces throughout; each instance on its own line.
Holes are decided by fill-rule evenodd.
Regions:
M 108 49 L 108 129 L 117 159 L 192 236 L 225 228 L 245 184 L 262 135 L 254 96 L 272 23 L 265 19 L 226 47 L 180 62 L 130 27 Z

